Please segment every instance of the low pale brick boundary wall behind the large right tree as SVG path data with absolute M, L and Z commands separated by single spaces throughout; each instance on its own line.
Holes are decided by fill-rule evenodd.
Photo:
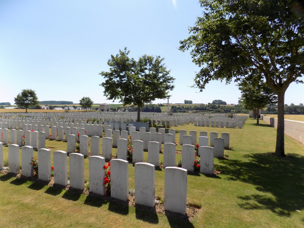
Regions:
M 266 123 L 270 124 L 274 128 L 278 127 L 278 118 L 261 115 L 261 119 L 263 119 Z M 294 140 L 304 145 L 304 122 L 285 119 L 284 124 L 285 135 L 290 136 Z

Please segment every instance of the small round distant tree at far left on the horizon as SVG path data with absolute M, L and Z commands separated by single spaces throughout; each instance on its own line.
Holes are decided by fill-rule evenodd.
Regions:
M 14 98 L 15 104 L 20 107 L 25 107 L 27 112 L 27 108 L 30 106 L 36 106 L 39 105 L 39 101 L 36 95 L 36 92 L 31 89 L 22 89 L 22 92 L 17 95 L 17 97 Z

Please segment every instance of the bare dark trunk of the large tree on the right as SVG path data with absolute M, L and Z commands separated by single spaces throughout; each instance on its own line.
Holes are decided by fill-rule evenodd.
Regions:
M 285 91 L 278 92 L 278 128 L 275 155 L 285 157 L 284 150 L 284 96 Z

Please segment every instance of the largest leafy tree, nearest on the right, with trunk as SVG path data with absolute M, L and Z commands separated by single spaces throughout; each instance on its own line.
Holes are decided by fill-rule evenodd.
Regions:
M 278 95 L 275 155 L 285 156 L 284 96 L 292 82 L 303 83 L 304 12 L 297 0 L 200 0 L 205 8 L 179 49 L 193 47 L 201 70 L 195 85 L 210 80 L 240 81 L 259 71 Z

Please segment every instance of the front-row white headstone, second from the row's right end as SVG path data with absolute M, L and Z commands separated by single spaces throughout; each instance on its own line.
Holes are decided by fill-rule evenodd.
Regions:
M 149 163 L 136 163 L 135 204 L 155 206 L 155 166 Z

